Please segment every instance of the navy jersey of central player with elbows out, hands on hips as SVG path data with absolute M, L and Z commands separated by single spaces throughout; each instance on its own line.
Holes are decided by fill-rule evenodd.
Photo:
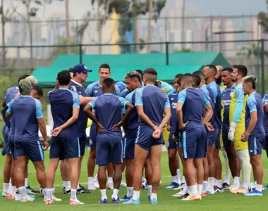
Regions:
M 97 132 L 97 139 L 122 139 L 121 129 L 111 129 L 111 127 L 121 120 L 121 110 L 126 107 L 125 98 L 118 97 L 114 94 L 102 94 L 92 99 L 90 106 L 95 109 L 97 120 L 104 127 L 104 132 Z

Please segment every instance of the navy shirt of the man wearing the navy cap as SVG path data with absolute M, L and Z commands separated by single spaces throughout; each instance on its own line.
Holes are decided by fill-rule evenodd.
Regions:
M 71 91 L 74 91 L 78 96 L 87 96 L 85 92 L 85 87 L 83 87 L 82 84 L 78 84 L 77 82 L 74 82 L 73 80 L 71 81 L 69 85 L 69 89 Z M 78 136 L 83 136 L 85 135 L 85 129 L 87 129 L 87 115 L 85 115 L 84 112 L 85 106 L 80 106 L 80 111 L 79 111 L 79 117 L 78 117 Z

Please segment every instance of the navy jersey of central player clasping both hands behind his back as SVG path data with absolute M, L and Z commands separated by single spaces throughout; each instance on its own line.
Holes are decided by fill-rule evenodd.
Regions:
M 162 122 L 164 108 L 170 107 L 169 97 L 158 87 L 147 85 L 135 92 L 135 106 L 143 106 L 145 115 L 154 125 Z M 145 124 L 139 117 L 139 124 Z

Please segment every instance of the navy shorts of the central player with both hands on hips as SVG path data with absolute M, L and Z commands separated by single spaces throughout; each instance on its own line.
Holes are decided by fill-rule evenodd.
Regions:
M 97 138 L 96 164 L 106 166 L 123 162 L 122 139 Z

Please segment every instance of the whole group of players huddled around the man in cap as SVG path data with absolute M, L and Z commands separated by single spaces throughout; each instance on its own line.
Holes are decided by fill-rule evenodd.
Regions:
M 153 68 L 128 72 L 126 84 L 115 83 L 109 77 L 109 65 L 103 64 L 98 71 L 99 81 L 85 89 L 88 72 L 92 70 L 78 64 L 58 73 L 56 87 L 48 94 L 54 122 L 50 147 L 39 101 L 43 91 L 35 77 L 23 75 L 18 87 L 6 91 L 2 103 L 6 123 L 2 196 L 22 202 L 35 200 L 37 191 L 30 188 L 27 179 L 28 160 L 32 160 L 45 204 L 60 201 L 54 196 L 54 179 L 61 160 L 63 192 L 71 195 L 70 205 L 83 204 L 77 193 L 90 193 L 97 188 L 101 192 L 99 203 L 108 203 L 106 170 L 107 188 L 113 189 L 111 203 L 139 205 L 143 186 L 148 189 L 150 203 L 157 204 L 164 140 L 168 141 L 172 176 L 166 188 L 181 190 L 173 197 L 201 200 L 202 196 L 224 190 L 263 196 L 267 186 L 262 185 L 261 154 L 263 147 L 268 155 L 268 91 L 263 98 L 255 91 L 257 80 L 247 76 L 245 66 L 206 65 L 203 71 L 176 75 L 174 88 L 157 80 Z M 78 180 L 89 120 L 87 189 Z M 44 151 L 48 148 L 50 163 L 46 173 Z M 226 163 L 224 183 L 219 151 Z M 183 164 L 182 181 L 178 157 Z M 95 163 L 99 169 L 94 179 Z M 119 199 L 125 166 L 127 194 Z M 142 177 L 144 169 L 146 179 Z

